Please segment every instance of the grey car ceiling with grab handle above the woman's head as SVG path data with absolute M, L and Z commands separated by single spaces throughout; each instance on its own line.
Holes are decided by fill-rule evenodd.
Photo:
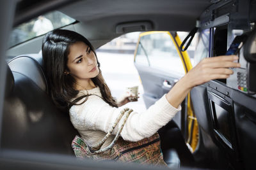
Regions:
M 58 10 L 77 20 L 62 29 L 82 34 L 97 49 L 128 32 L 189 32 L 195 27 L 200 14 L 211 4 L 211 1 L 205 0 L 19 1 L 13 25 Z M 24 53 L 40 52 L 43 36 L 12 46 L 7 52 L 8 56 L 12 58 Z

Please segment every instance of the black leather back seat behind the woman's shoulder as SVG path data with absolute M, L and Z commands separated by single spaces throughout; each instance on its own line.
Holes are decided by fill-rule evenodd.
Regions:
M 47 96 L 42 56 L 15 57 L 7 72 L 1 148 L 74 155 L 78 132 Z

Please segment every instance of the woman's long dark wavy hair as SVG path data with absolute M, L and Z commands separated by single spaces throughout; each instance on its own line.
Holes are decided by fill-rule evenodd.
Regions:
M 85 98 L 84 103 L 87 101 L 88 96 L 91 96 L 91 94 L 86 94 L 77 97 L 79 90 L 74 88 L 74 84 L 76 83 L 75 78 L 70 74 L 64 74 L 65 70 L 68 71 L 67 60 L 70 52 L 69 47 L 77 41 L 83 41 L 95 53 L 95 49 L 88 39 L 77 32 L 65 29 L 54 29 L 48 32 L 44 36 L 42 43 L 43 67 L 49 83 L 48 93 L 54 104 L 63 111 L 68 111 L 71 106 L 77 104 L 77 101 L 83 98 Z M 99 67 L 99 74 L 92 78 L 92 81 L 100 88 L 102 99 L 110 106 L 118 108 L 116 99 L 111 96 L 109 87 L 104 81 L 96 53 L 95 56 Z

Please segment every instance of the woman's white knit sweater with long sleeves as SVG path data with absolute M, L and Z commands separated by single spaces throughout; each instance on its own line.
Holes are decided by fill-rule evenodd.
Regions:
M 102 97 L 99 87 L 87 91 L 88 94 L 97 94 Z M 78 96 L 83 94 L 87 94 L 86 90 L 81 90 Z M 89 146 L 95 145 L 106 135 L 120 111 L 125 108 L 125 105 L 119 108 L 112 107 L 98 96 L 89 96 L 85 103 L 74 105 L 69 110 L 72 124 Z M 179 108 L 174 108 L 168 103 L 166 94 L 164 94 L 161 99 L 143 113 L 132 111 L 124 125 L 121 136 L 127 141 L 139 141 L 143 138 L 148 138 L 163 125 L 166 125 L 175 116 L 175 113 L 180 110 L 180 106 Z M 113 135 L 102 148 L 111 143 L 119 127 L 120 125 L 118 124 Z

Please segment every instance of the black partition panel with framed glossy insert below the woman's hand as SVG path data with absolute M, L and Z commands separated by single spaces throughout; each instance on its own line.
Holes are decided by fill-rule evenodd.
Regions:
M 209 81 L 207 84 L 212 130 L 214 131 L 212 141 L 226 156 L 232 168 L 241 169 L 242 164 L 240 147 L 237 140 L 234 101 L 230 97 L 232 92 L 233 89 L 230 89 L 225 83 L 220 81 Z

